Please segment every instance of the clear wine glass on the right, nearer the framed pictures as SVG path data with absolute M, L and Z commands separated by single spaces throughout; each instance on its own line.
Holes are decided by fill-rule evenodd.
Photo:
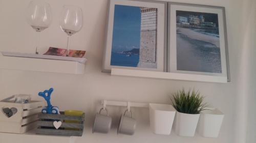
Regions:
M 70 37 L 79 32 L 83 25 L 82 9 L 76 6 L 63 6 L 59 25 L 62 31 L 68 35 L 66 56 L 69 56 Z

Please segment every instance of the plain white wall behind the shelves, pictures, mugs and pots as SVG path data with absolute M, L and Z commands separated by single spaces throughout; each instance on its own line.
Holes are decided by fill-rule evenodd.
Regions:
M 255 94 L 253 85 L 256 84 L 253 74 L 255 64 L 252 62 L 255 61 L 253 55 L 255 55 L 254 41 L 256 38 L 254 24 L 256 22 L 256 5 L 253 0 L 173 1 L 226 7 L 231 70 L 231 82 L 226 84 L 113 77 L 108 73 L 101 73 L 108 1 L 46 1 L 53 9 L 53 23 L 41 33 L 39 52 L 46 51 L 49 46 L 65 47 L 67 37 L 58 26 L 58 15 L 64 4 L 80 6 L 84 13 L 84 26 L 79 33 L 71 37 L 70 47 L 87 50 L 86 73 L 70 75 L 0 70 L 0 98 L 27 93 L 34 95 L 36 99 L 41 99 L 36 96 L 37 93 L 53 87 L 55 89 L 52 96 L 53 105 L 59 106 L 61 110 L 79 109 L 86 112 L 86 133 L 78 139 L 78 142 L 243 143 L 246 141 L 246 137 L 247 142 L 255 142 L 255 128 L 250 127 L 250 123 L 253 123 L 253 119 L 255 119 L 255 113 L 254 116 L 248 116 L 250 113 L 247 113 L 247 109 L 249 112 L 255 112 L 255 105 L 251 103 L 252 101 L 249 103 L 253 98 L 255 101 L 255 96 L 252 95 Z M 24 11 L 28 3 L 29 0 L 0 0 L 0 51 L 34 52 L 35 32 L 24 18 Z M 199 89 L 202 95 L 206 96 L 207 102 L 225 113 L 219 138 L 203 138 L 199 135 L 193 138 L 180 137 L 175 133 L 169 136 L 154 135 L 148 130 L 148 110 L 137 108 L 133 108 L 139 122 L 134 136 L 116 135 L 116 128 L 113 128 L 110 134 L 91 134 L 94 114 L 100 108 L 99 101 L 101 99 L 170 103 L 169 96 L 182 87 Z M 248 108 L 250 104 L 253 106 Z M 109 108 L 109 110 L 114 117 L 115 127 L 124 108 Z M 246 131 L 248 131 L 247 136 Z M 56 140 L 56 142 L 58 141 Z

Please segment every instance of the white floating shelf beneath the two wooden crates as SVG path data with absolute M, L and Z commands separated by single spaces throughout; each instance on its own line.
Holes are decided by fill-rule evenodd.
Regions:
M 75 143 L 77 136 L 54 136 L 38 135 L 35 131 L 29 131 L 25 134 L 0 133 L 0 142 L 2 143 Z

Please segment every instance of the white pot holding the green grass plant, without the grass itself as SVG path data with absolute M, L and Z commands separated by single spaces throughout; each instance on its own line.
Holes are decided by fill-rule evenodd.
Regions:
M 180 136 L 194 136 L 200 114 L 176 113 L 174 130 Z

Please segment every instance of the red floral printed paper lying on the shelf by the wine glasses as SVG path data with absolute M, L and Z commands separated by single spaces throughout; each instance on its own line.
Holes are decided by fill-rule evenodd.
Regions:
M 66 56 L 66 53 L 67 49 L 50 47 L 44 55 Z M 69 57 L 83 58 L 84 54 L 86 54 L 86 51 L 83 50 L 69 50 Z

